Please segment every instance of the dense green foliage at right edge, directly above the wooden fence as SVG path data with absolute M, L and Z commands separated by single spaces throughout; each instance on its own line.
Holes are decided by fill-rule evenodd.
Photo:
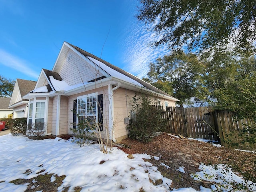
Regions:
M 204 86 L 208 102 L 220 110 L 230 110 L 239 118 L 256 120 L 256 58 L 218 54 L 205 62 Z

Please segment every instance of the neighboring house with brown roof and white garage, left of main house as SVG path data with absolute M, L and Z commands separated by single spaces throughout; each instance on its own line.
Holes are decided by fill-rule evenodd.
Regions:
M 28 99 L 22 97 L 34 90 L 36 81 L 16 79 L 9 108 L 13 110 L 12 118 L 28 117 Z

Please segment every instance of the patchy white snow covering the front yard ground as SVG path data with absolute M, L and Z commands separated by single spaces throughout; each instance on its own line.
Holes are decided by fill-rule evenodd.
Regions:
M 16 179 L 31 179 L 39 174 L 54 174 L 55 176 L 66 175 L 62 186 L 58 187 L 61 192 L 64 187 L 70 186 L 69 191 L 74 187 L 82 187 L 85 191 L 127 191 L 138 192 L 164 192 L 169 191 L 172 181 L 162 176 L 158 168 L 143 158 L 154 158 L 147 154 L 134 154 L 134 158 L 128 158 L 128 154 L 118 148 L 113 148 L 111 153 L 103 154 L 98 144 L 89 144 L 80 148 L 70 140 L 30 140 L 24 136 L 12 136 L 11 134 L 0 136 L 0 191 L 1 192 L 23 192 L 28 184 L 15 185 L 10 183 Z M 241 182 L 244 180 L 238 177 L 230 168 L 228 174 L 223 172 L 227 167 L 200 165 L 201 172 L 196 174 L 195 179 L 206 179 L 209 181 L 224 183 L 226 180 Z M 30 174 L 28 174 L 30 170 Z M 186 172 L 180 168 L 181 172 Z M 209 177 L 209 175 L 214 176 Z M 218 175 L 218 180 L 215 178 Z M 195 176 L 195 175 L 194 175 Z M 221 176 L 221 179 L 220 179 Z M 227 177 L 227 178 L 225 178 Z M 162 184 L 154 185 L 157 180 Z M 36 182 L 36 181 L 34 181 Z M 212 186 L 216 189 L 216 186 Z M 256 187 L 253 188 L 256 190 Z M 174 191 L 196 192 L 193 188 L 180 188 Z M 210 192 L 211 189 L 201 187 L 202 192 Z

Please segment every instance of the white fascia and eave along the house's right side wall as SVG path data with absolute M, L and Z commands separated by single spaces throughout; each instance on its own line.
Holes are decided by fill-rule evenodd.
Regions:
M 124 80 L 121 80 L 121 79 L 118 79 L 118 78 L 115 78 L 115 77 L 112 77 L 113 81 L 116 81 L 116 82 L 121 82 L 121 87 L 122 88 L 128 88 L 130 90 L 134 90 L 134 91 L 138 91 L 138 90 L 141 90 L 142 92 L 150 92 L 150 93 L 153 93 L 153 94 L 156 94 L 158 97 L 160 98 L 164 98 L 164 99 L 168 99 L 168 100 L 172 100 L 172 101 L 179 101 L 178 99 L 174 98 L 174 97 L 170 97 L 170 96 L 167 96 L 167 95 L 164 95 L 164 94 L 161 94 L 161 93 L 158 93 L 158 92 L 155 92 L 155 91 L 152 91 L 146 87 L 142 87 L 142 86 L 138 86 L 138 85 L 135 85 L 135 84 L 132 84 L 132 83 L 129 83 L 127 81 L 124 81 Z

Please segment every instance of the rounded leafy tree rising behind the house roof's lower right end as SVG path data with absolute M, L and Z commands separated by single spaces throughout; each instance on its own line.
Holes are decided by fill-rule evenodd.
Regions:
M 173 92 L 173 96 L 180 100 L 178 104 L 182 105 L 186 100 L 202 95 L 198 86 L 203 69 L 196 55 L 172 52 L 150 63 L 148 82 L 169 94 Z

